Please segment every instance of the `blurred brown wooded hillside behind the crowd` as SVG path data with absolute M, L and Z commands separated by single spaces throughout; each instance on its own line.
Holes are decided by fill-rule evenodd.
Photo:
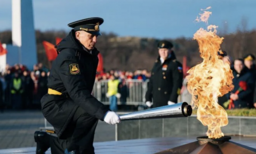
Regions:
M 65 31 L 36 31 L 38 62 L 48 65 L 42 41 L 46 40 L 55 44 L 55 37 L 64 38 Z M 221 49 L 233 57 L 243 57 L 247 53 L 256 53 L 256 30 L 237 31 L 228 35 L 222 35 Z M 0 32 L 0 41 L 11 44 L 11 31 Z M 102 33 L 98 37 L 97 48 L 102 53 L 106 70 L 150 70 L 158 55 L 157 42 L 154 38 L 118 37 L 114 33 Z M 197 42 L 188 38 L 177 38 L 170 40 L 174 44 L 177 58 L 182 62 L 182 57 L 187 56 L 189 66 L 201 61 Z

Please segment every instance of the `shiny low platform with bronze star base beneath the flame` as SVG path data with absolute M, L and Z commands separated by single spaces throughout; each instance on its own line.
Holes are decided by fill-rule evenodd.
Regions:
M 194 137 L 190 136 L 189 138 L 155 138 L 155 139 L 124 140 L 124 141 L 117 141 L 117 142 L 116 141 L 95 142 L 94 148 L 95 148 L 96 154 L 120 154 L 120 153 L 130 153 L 130 154 L 155 153 L 156 154 L 156 152 L 171 149 L 174 147 L 179 147 L 184 144 L 190 143 L 189 146 L 187 145 L 186 147 L 181 147 L 178 149 L 176 148 L 176 150 L 173 149 L 175 152 L 172 152 L 173 150 L 169 150 L 169 152 L 163 152 L 163 153 L 188 153 L 188 151 L 189 153 L 191 151 L 193 151 L 191 153 L 198 153 L 198 151 L 206 150 L 206 152 L 204 153 L 254 154 L 256 153 L 255 139 L 256 138 L 235 136 L 235 137 L 232 137 L 231 142 L 223 143 L 219 147 L 217 147 L 217 146 L 213 146 L 213 144 L 211 143 L 202 144 L 202 146 L 200 146 L 200 144 L 198 144 L 198 142 L 196 141 L 196 136 Z M 245 146 L 249 146 L 249 147 L 245 147 Z M 0 150 L 0 153 L 1 154 L 14 154 L 14 153 L 15 154 L 35 154 L 35 149 L 36 149 L 35 147 L 6 149 L 6 150 Z M 51 153 L 51 150 L 49 149 L 46 152 L 46 154 L 50 154 L 50 153 Z M 202 151 L 200 153 L 202 153 Z

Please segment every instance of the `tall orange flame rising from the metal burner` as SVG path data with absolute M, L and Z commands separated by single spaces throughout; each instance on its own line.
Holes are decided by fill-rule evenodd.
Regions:
M 204 12 L 201 18 L 197 19 L 207 23 L 210 14 L 211 12 Z M 234 88 L 232 83 L 234 76 L 230 66 L 228 63 L 223 63 L 222 57 L 218 56 L 224 38 L 217 35 L 217 28 L 216 25 L 209 25 L 207 30 L 200 28 L 194 34 L 203 62 L 191 68 L 187 76 L 188 91 L 194 96 L 191 106 L 198 108 L 197 119 L 204 126 L 208 126 L 206 135 L 213 139 L 224 136 L 220 127 L 228 124 L 227 112 L 218 104 L 218 97 Z

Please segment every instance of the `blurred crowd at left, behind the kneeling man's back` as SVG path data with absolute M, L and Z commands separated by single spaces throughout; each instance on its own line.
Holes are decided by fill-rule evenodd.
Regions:
M 32 109 L 39 107 L 39 101 L 47 92 L 49 70 L 42 63 L 28 70 L 22 64 L 7 65 L 0 73 L 0 108 Z

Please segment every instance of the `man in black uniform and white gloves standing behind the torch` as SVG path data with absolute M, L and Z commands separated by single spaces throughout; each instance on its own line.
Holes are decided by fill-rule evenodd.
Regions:
M 172 50 L 172 43 L 162 40 L 158 43 L 159 56 L 151 70 L 146 92 L 148 107 L 161 107 L 177 103 L 182 86 L 182 65 Z

